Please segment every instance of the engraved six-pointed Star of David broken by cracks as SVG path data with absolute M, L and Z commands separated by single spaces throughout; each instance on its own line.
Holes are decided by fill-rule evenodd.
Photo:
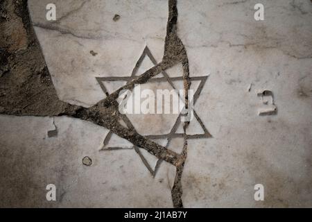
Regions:
M 101 86 L 101 89 L 103 90 L 104 94 L 106 96 L 110 95 L 110 93 L 107 91 L 107 89 L 104 85 L 105 82 L 126 81 L 127 83 L 129 83 L 131 80 L 137 78 L 137 76 L 136 76 L 137 71 L 139 70 L 139 67 L 141 66 L 141 64 L 142 64 L 144 58 L 146 58 L 146 56 L 148 56 L 148 58 L 153 62 L 153 65 L 157 65 L 157 61 L 155 60 L 154 56 L 150 52 L 150 49 L 148 49 L 148 46 L 146 46 L 146 48 L 144 49 L 143 53 L 141 54 L 139 60 L 137 61 L 137 64 L 135 65 L 135 68 L 133 69 L 131 76 L 98 77 L 98 78 L 96 78 L 96 80 L 98 81 L 99 85 Z M 168 82 L 171 85 L 171 87 L 173 87 L 173 89 L 176 89 L 175 85 L 173 85 L 173 82 L 183 80 L 182 76 L 181 77 L 169 77 L 168 74 L 166 73 L 166 71 L 162 71 L 162 75 L 164 77 L 150 78 L 147 83 Z M 208 76 L 199 76 L 199 77 L 190 77 L 189 78 L 191 83 L 192 83 L 192 81 L 200 81 L 200 85 L 196 89 L 196 92 L 194 93 L 194 96 L 193 96 L 193 105 L 196 104 L 196 101 L 198 100 L 198 97 L 200 96 L 200 92 L 202 91 L 202 88 L 204 87 L 204 85 L 207 81 L 207 78 L 208 78 Z M 201 138 L 211 137 L 211 134 L 209 133 L 209 131 L 205 127 L 204 123 L 202 122 L 202 120 L 200 119 L 198 114 L 196 113 L 196 110 L 193 110 L 193 115 L 194 115 L 195 119 L 198 121 L 198 123 L 200 124 L 200 127 L 202 128 L 204 133 L 198 134 L 198 135 L 187 135 L 187 139 L 201 139 Z M 170 133 L 165 134 L 165 135 L 146 135 L 145 137 L 148 139 L 166 139 L 167 142 L 166 142 L 165 147 L 168 148 L 168 146 L 171 143 L 171 140 L 173 138 L 184 137 L 184 133 L 176 133 L 177 128 L 179 127 L 179 125 L 181 123 L 181 116 L 182 116 L 182 114 L 180 113 L 179 116 L 177 117 L 174 125 L 173 125 L 173 128 L 171 128 Z M 135 130 L 135 127 L 132 125 L 131 121 L 128 119 L 128 117 L 126 117 L 126 115 L 122 115 L 122 119 L 128 128 Z M 116 151 L 116 150 L 121 150 L 121 149 L 135 149 L 135 151 L 137 152 L 137 154 L 141 158 L 142 162 L 144 163 L 144 165 L 148 169 L 148 171 L 150 171 L 150 174 L 153 177 L 155 177 L 157 170 L 159 169 L 159 166 L 162 163 L 162 160 L 157 160 L 156 165 L 154 167 L 152 167 L 152 166 L 150 166 L 150 164 L 146 160 L 146 157 L 144 157 L 143 153 L 141 153 L 141 150 L 140 150 L 141 148 L 139 148 L 138 146 L 133 145 L 131 148 L 107 147 L 107 144 L 109 144 L 112 135 L 113 135 L 113 133 L 110 130 L 110 132 L 107 133 L 107 135 L 104 139 L 103 148 L 101 148 L 101 151 Z

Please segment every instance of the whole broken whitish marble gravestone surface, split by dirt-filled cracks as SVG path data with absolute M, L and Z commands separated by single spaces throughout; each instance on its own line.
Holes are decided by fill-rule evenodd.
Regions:
M 163 59 L 167 0 L 54 0 L 56 21 L 46 20 L 48 3 L 29 0 L 28 8 L 62 101 L 89 108 L 104 88 L 110 94 Z M 177 0 L 177 36 L 200 92 L 187 129 L 184 207 L 312 206 L 312 3 L 263 0 L 263 21 L 254 19 L 256 3 Z M 144 87 L 172 89 L 164 75 L 183 88 L 181 63 Z M 179 153 L 183 138 L 168 137 L 178 116 L 128 118 Z M 1 115 L 0 125 L 1 152 L 11 157 L 3 161 L 12 176 L 1 181 L 7 205 L 173 207 L 175 167 L 109 129 L 70 117 Z M 58 189 L 55 202 L 46 201 L 48 184 Z M 257 184 L 263 201 L 254 200 Z M 19 203 L 16 189 L 27 190 Z

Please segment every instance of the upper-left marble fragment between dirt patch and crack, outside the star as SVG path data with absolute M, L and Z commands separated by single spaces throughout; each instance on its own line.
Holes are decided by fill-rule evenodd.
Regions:
M 103 99 L 95 77 L 130 76 L 145 46 L 162 60 L 166 0 L 56 0 L 55 22 L 46 20 L 48 3 L 30 0 L 28 8 L 63 101 L 89 107 Z M 114 15 L 120 15 L 116 22 Z

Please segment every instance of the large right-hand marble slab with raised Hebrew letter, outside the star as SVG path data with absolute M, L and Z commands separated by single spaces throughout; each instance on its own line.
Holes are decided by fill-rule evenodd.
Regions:
M 178 1 L 191 76 L 210 74 L 196 110 L 214 136 L 189 142 L 186 207 L 312 205 L 312 3 L 261 1 L 260 22 L 255 3 Z M 277 115 L 258 116 L 264 89 Z

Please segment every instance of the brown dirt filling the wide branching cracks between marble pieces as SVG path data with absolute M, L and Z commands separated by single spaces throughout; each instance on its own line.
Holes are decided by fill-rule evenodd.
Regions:
M 4 0 L 0 4 L 1 30 L 8 29 L 7 27 L 10 26 L 11 20 L 16 22 L 16 19 L 18 19 L 17 25 L 20 26 L 21 33 L 26 36 L 26 42 L 22 42 L 24 44 L 21 45 L 21 40 L 15 36 L 15 32 L 10 32 L 9 30 L 0 34 L 4 35 L 0 38 L 0 52 L 3 55 L 9 55 L 8 61 L 0 61 L 0 65 L 6 67 L 6 72 L 0 73 L 0 114 L 35 117 L 74 117 L 91 121 L 98 126 L 111 130 L 112 133 L 127 139 L 134 146 L 144 148 L 159 158 L 159 160 L 166 161 L 176 167 L 171 196 L 174 207 L 183 207 L 182 173 L 187 160 L 187 128 L 189 122 L 184 122 L 183 126 L 184 146 L 182 153 L 175 153 L 164 146 L 156 144 L 147 137 L 139 135 L 133 128 L 122 126 L 119 120 L 124 117 L 119 113 L 118 104 L 116 104 L 116 99 L 121 90 L 131 90 L 136 84 L 144 84 L 157 74 L 162 73 L 162 71 L 181 62 L 183 66 L 184 90 L 186 91 L 184 100 L 186 108 L 188 108 L 189 99 L 187 92 L 191 85 L 189 60 L 184 44 L 177 36 L 177 0 L 168 0 L 168 22 L 162 62 L 148 69 L 141 76 L 130 80 L 123 87 L 90 108 L 71 105 L 58 99 L 33 26 L 31 26 L 27 0 L 21 0 L 16 3 Z M 13 48 L 12 46 L 15 47 Z M 24 62 L 26 58 L 31 59 L 28 62 Z M 25 106 L 25 104 L 27 105 Z

